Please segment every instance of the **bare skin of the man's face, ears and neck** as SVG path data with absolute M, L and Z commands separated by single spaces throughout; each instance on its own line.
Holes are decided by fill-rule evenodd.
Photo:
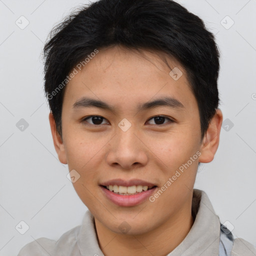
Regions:
M 120 46 L 99 49 L 69 81 L 62 106 L 62 139 L 49 114 L 58 158 L 69 171 L 80 174 L 73 186 L 94 216 L 98 243 L 106 256 L 161 256 L 172 251 L 193 224 L 191 201 L 198 162 L 210 162 L 219 143 L 221 111 L 217 109 L 201 139 L 199 111 L 185 70 L 168 58 L 171 68 L 183 72 L 174 80 L 160 53 L 141 52 Z M 184 107 L 137 110 L 138 104 L 166 95 Z M 73 110 L 82 96 L 105 101 L 114 112 L 97 107 Z M 90 115 L 102 116 L 102 124 L 84 120 Z M 157 115 L 166 117 L 163 124 L 152 118 Z M 118 127 L 123 118 L 131 123 L 125 132 Z M 197 151 L 200 156 L 154 202 L 146 199 L 135 206 L 118 206 L 99 187 L 114 178 L 137 178 L 160 188 Z M 130 226 L 127 233 L 118 228 L 123 221 Z

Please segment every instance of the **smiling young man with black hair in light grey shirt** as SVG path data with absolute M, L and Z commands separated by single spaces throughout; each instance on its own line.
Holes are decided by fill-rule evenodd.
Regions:
M 219 53 L 199 17 L 171 0 L 99 0 L 44 54 L 54 146 L 88 211 L 19 256 L 256 255 L 193 189 L 222 122 Z

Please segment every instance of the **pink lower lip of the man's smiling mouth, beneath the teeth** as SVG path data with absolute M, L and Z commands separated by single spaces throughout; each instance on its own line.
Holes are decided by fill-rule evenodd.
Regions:
M 146 191 L 139 192 L 137 194 L 132 195 L 121 195 L 116 194 L 103 186 L 100 186 L 105 196 L 112 201 L 113 203 L 119 205 L 119 206 L 133 206 L 137 205 L 141 202 L 143 202 L 145 199 L 147 199 L 157 187 L 148 189 Z

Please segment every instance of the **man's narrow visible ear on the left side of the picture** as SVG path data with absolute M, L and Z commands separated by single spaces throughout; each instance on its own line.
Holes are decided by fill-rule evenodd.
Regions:
M 63 145 L 60 134 L 56 130 L 56 123 L 55 123 L 55 119 L 53 117 L 52 112 L 49 113 L 49 122 L 50 122 L 50 130 L 51 130 L 51 135 L 53 139 L 53 144 L 58 154 L 58 159 L 61 163 L 66 164 L 67 161 L 66 161 L 64 145 Z

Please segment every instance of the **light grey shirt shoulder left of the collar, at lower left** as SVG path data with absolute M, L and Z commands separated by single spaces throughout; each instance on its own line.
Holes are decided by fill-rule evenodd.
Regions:
M 24 245 L 17 256 L 55 256 L 59 253 L 63 256 L 80 255 L 77 245 L 77 234 L 80 226 L 73 227 L 63 233 L 60 238 L 55 241 L 45 237 L 38 238 Z

